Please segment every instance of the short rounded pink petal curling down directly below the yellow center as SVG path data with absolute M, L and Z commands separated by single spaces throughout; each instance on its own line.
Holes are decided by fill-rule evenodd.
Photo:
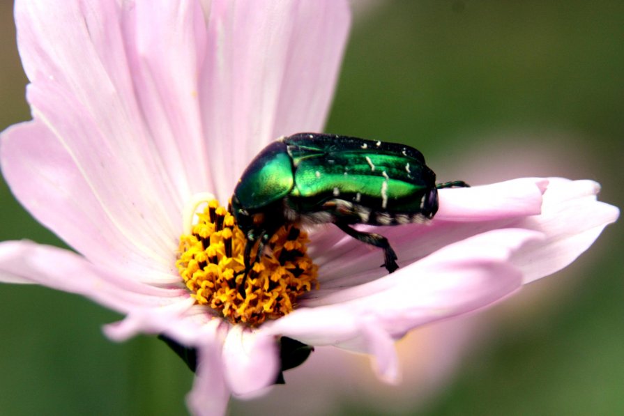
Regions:
M 234 394 L 249 394 L 272 385 L 280 362 L 275 337 L 234 325 L 223 345 L 225 377 Z

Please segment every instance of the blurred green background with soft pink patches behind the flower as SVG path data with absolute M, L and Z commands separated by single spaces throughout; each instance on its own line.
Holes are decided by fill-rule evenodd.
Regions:
M 30 118 L 11 8 L 2 1 L 0 129 Z M 441 180 L 593 178 L 602 201 L 624 206 L 624 2 L 356 8 L 327 131 L 417 146 Z M 0 240 L 62 246 L 4 183 L 0 198 Z M 476 316 L 491 324 L 485 341 L 426 403 L 372 405 L 349 386 L 342 399 L 314 399 L 335 401 L 335 414 L 624 414 L 623 242 L 620 222 L 572 267 Z M 0 286 L 0 414 L 185 414 L 188 370 L 153 338 L 107 341 L 100 325 L 118 318 L 66 293 Z M 305 386 L 313 397 L 314 383 L 323 380 Z M 230 411 L 272 399 L 236 401 Z M 275 409 L 296 414 L 297 400 Z

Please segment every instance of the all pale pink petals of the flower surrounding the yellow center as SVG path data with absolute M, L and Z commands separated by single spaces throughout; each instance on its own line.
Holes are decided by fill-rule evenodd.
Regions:
M 176 269 L 185 207 L 201 192 L 227 203 L 269 141 L 321 130 L 346 3 L 17 0 L 15 20 L 33 121 L 3 132 L 3 175 L 79 254 L 2 242 L 0 278 L 120 311 L 112 339 L 166 334 L 197 348 L 198 415 L 271 385 L 280 336 L 369 353 L 396 382 L 395 339 L 560 270 L 618 217 L 589 180 L 441 190 L 430 224 L 380 229 L 399 257 L 392 275 L 379 250 L 324 227 L 309 249 L 321 288 L 258 328 L 231 324 L 196 305 Z

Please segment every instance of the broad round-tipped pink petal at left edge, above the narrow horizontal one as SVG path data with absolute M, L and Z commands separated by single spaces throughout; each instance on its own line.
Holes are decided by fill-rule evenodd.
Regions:
M 67 149 L 43 123 L 22 123 L 4 132 L 0 153 L 15 197 L 91 262 L 144 282 L 178 281 L 172 273 L 175 246 L 146 247 L 142 238 L 112 221 L 112 208 L 93 194 Z

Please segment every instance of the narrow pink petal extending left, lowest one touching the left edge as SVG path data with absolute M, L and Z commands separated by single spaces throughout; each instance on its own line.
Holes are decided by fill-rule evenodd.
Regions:
M 82 256 L 29 241 L 0 243 L 0 279 L 7 283 L 36 283 L 84 295 L 126 314 L 107 325 L 107 336 L 123 341 L 138 333 L 167 334 L 189 346 L 218 338 L 208 322 L 211 315 L 193 310 L 195 300 L 186 288 L 159 288 L 141 284 L 127 273 L 117 275 L 93 265 Z M 208 334 L 208 332 L 210 334 Z

